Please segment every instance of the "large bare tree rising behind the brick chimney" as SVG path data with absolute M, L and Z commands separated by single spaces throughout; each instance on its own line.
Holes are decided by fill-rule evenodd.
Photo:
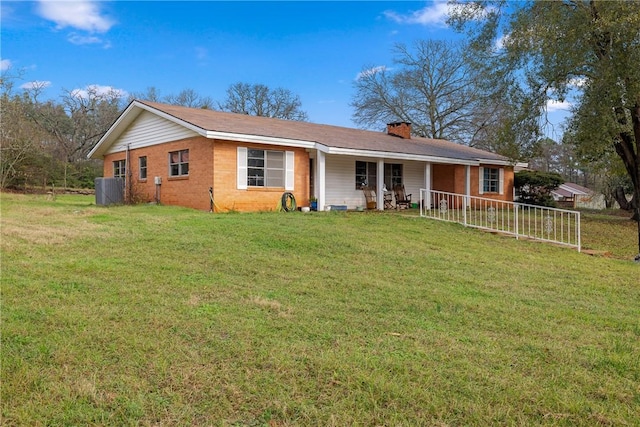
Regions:
M 463 46 L 420 40 L 412 49 L 398 44 L 394 52 L 393 67 L 370 67 L 358 75 L 354 121 L 373 128 L 407 121 L 419 136 L 481 145 L 500 105 L 486 102 L 482 74 Z

